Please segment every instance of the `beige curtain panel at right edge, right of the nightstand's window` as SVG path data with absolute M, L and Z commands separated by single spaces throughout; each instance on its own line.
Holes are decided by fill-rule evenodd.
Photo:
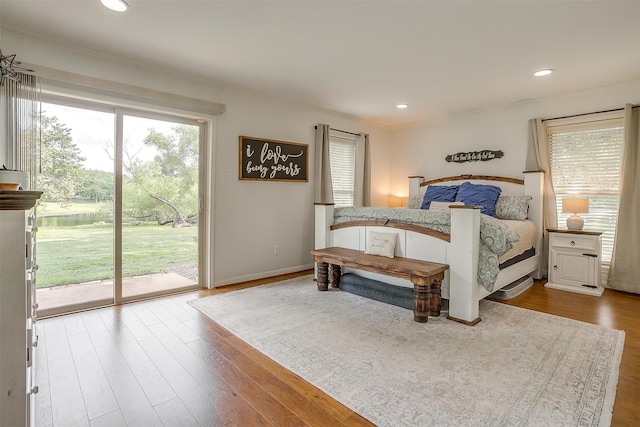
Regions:
M 624 109 L 620 206 L 607 287 L 640 294 L 640 109 Z

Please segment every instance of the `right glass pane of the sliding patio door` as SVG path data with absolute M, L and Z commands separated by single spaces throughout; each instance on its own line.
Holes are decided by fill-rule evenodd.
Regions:
M 122 297 L 198 283 L 198 126 L 124 115 Z

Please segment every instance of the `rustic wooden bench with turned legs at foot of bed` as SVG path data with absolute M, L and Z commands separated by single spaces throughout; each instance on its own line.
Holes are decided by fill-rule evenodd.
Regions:
M 413 319 L 425 323 L 429 316 L 440 316 L 442 299 L 440 288 L 447 264 L 419 261 L 410 258 L 387 258 L 367 255 L 363 251 L 346 248 L 325 248 L 311 251 L 318 266 L 318 290 L 329 289 L 329 265 L 331 266 L 331 286 L 340 287 L 341 267 L 400 277 L 413 283 Z

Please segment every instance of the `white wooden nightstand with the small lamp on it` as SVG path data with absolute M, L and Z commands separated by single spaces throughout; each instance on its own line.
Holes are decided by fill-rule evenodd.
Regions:
M 547 228 L 549 281 L 547 288 L 602 296 L 601 232 Z

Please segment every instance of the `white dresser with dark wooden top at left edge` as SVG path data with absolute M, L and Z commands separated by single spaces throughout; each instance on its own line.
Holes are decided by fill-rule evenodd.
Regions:
M 35 216 L 41 191 L 0 191 L 0 426 L 33 422 Z

